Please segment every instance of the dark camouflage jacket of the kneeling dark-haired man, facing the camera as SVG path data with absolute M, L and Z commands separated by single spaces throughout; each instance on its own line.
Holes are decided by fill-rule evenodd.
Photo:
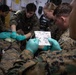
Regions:
M 31 18 L 26 17 L 25 11 L 18 10 L 10 19 L 10 25 L 15 24 L 17 26 L 17 30 L 21 29 L 25 34 L 33 32 L 35 30 L 39 30 L 39 20 L 36 14 L 34 14 Z

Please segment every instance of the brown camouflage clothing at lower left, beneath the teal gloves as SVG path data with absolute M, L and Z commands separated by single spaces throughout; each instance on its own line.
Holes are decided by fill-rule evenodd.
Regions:
M 7 71 L 10 67 L 12 67 L 13 63 L 19 58 L 21 51 L 18 42 L 8 42 L 3 39 L 0 39 L 0 49 L 2 49 L 0 68 L 3 68 L 5 71 Z

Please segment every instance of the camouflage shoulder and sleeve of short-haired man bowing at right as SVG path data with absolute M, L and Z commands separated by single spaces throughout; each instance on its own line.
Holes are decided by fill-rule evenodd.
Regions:
M 64 50 L 75 49 L 76 46 L 76 41 L 69 37 L 69 30 L 60 37 L 59 43 Z

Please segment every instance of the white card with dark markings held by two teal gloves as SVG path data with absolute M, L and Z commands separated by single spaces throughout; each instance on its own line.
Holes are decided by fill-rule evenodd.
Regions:
M 39 45 L 50 45 L 48 38 L 51 38 L 49 31 L 35 31 L 35 37 L 39 39 Z

